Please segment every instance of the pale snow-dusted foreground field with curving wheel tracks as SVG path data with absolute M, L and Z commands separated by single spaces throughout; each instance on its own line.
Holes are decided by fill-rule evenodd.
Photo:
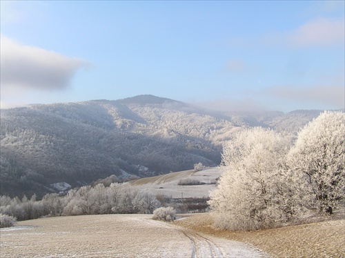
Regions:
M 21 221 L 1 232 L 0 257 L 265 257 L 152 215 L 90 215 Z

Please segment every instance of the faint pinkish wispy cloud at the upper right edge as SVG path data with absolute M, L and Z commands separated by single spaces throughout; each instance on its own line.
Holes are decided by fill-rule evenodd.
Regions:
M 266 35 L 263 41 L 298 48 L 340 45 L 344 44 L 344 22 L 344 19 L 319 18 L 308 21 L 290 32 Z

